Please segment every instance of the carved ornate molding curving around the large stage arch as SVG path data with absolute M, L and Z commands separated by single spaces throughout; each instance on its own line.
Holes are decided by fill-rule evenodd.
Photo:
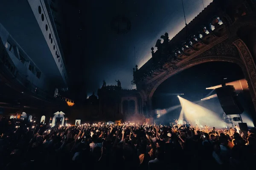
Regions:
M 231 46 L 230 46 L 231 47 Z M 233 47 L 236 48 L 236 52 L 233 51 L 232 55 L 229 53 L 229 55 L 212 55 L 210 50 L 205 51 L 204 53 L 198 55 L 192 60 L 189 60 L 188 62 L 180 65 L 180 66 L 173 66 L 166 71 L 165 74 L 163 74 L 161 77 L 158 77 L 154 81 L 148 83 L 146 85 L 145 91 L 143 91 L 144 95 L 147 96 L 147 101 L 151 103 L 151 98 L 156 91 L 156 89 L 159 87 L 160 84 L 162 84 L 166 79 L 172 77 L 173 75 L 186 70 L 188 68 L 191 68 L 195 65 L 199 65 L 206 62 L 233 62 L 240 66 L 242 69 L 245 78 L 247 79 L 248 86 L 250 89 L 250 94 L 253 100 L 253 105 L 256 108 L 256 65 L 254 63 L 253 57 L 250 54 L 249 49 L 245 45 L 245 43 L 238 39 L 233 42 Z M 232 47 L 232 48 L 233 48 Z M 215 51 L 214 48 L 211 49 L 212 51 Z

